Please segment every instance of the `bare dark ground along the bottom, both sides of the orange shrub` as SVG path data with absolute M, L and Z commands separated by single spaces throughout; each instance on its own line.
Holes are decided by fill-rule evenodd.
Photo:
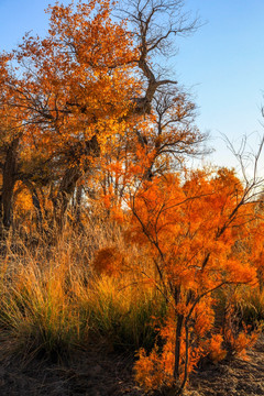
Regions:
M 8 358 L 0 346 L 0 396 L 142 396 L 128 354 L 78 352 L 66 365 Z M 249 361 L 208 364 L 193 374 L 186 396 L 264 396 L 264 337 Z

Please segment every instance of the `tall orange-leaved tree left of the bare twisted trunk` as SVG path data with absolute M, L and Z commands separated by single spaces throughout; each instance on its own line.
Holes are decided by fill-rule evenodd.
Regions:
M 59 166 L 54 202 L 62 216 L 76 182 L 100 154 L 108 136 L 125 129 L 136 87 L 129 73 L 135 57 L 123 23 L 110 20 L 109 2 L 51 8 L 48 36 L 26 35 L 14 58 L 22 77 L 4 82 L 28 119 L 32 151 Z M 133 50 L 133 51 L 132 51 Z M 14 106 L 9 97 L 4 106 Z M 61 218 L 62 218 L 61 216 Z

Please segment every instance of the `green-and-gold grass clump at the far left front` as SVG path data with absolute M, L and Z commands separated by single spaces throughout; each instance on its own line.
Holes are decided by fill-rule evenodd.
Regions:
M 65 358 L 79 341 L 78 309 L 64 287 L 62 266 L 31 263 L 8 283 L 0 305 L 0 326 L 15 352 Z

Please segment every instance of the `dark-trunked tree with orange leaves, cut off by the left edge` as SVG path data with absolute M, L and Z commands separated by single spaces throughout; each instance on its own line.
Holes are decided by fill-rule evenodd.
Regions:
M 1 238 L 7 235 L 12 224 L 13 206 L 23 189 L 30 190 L 32 207 L 35 207 L 41 219 L 40 200 L 34 184 L 45 184 L 48 178 L 46 157 L 43 153 L 36 154 L 26 138 L 31 123 L 28 112 L 20 106 L 21 95 L 10 87 L 11 81 L 18 84 L 14 70 L 8 65 L 11 59 L 10 55 L 2 55 L 0 59 Z

